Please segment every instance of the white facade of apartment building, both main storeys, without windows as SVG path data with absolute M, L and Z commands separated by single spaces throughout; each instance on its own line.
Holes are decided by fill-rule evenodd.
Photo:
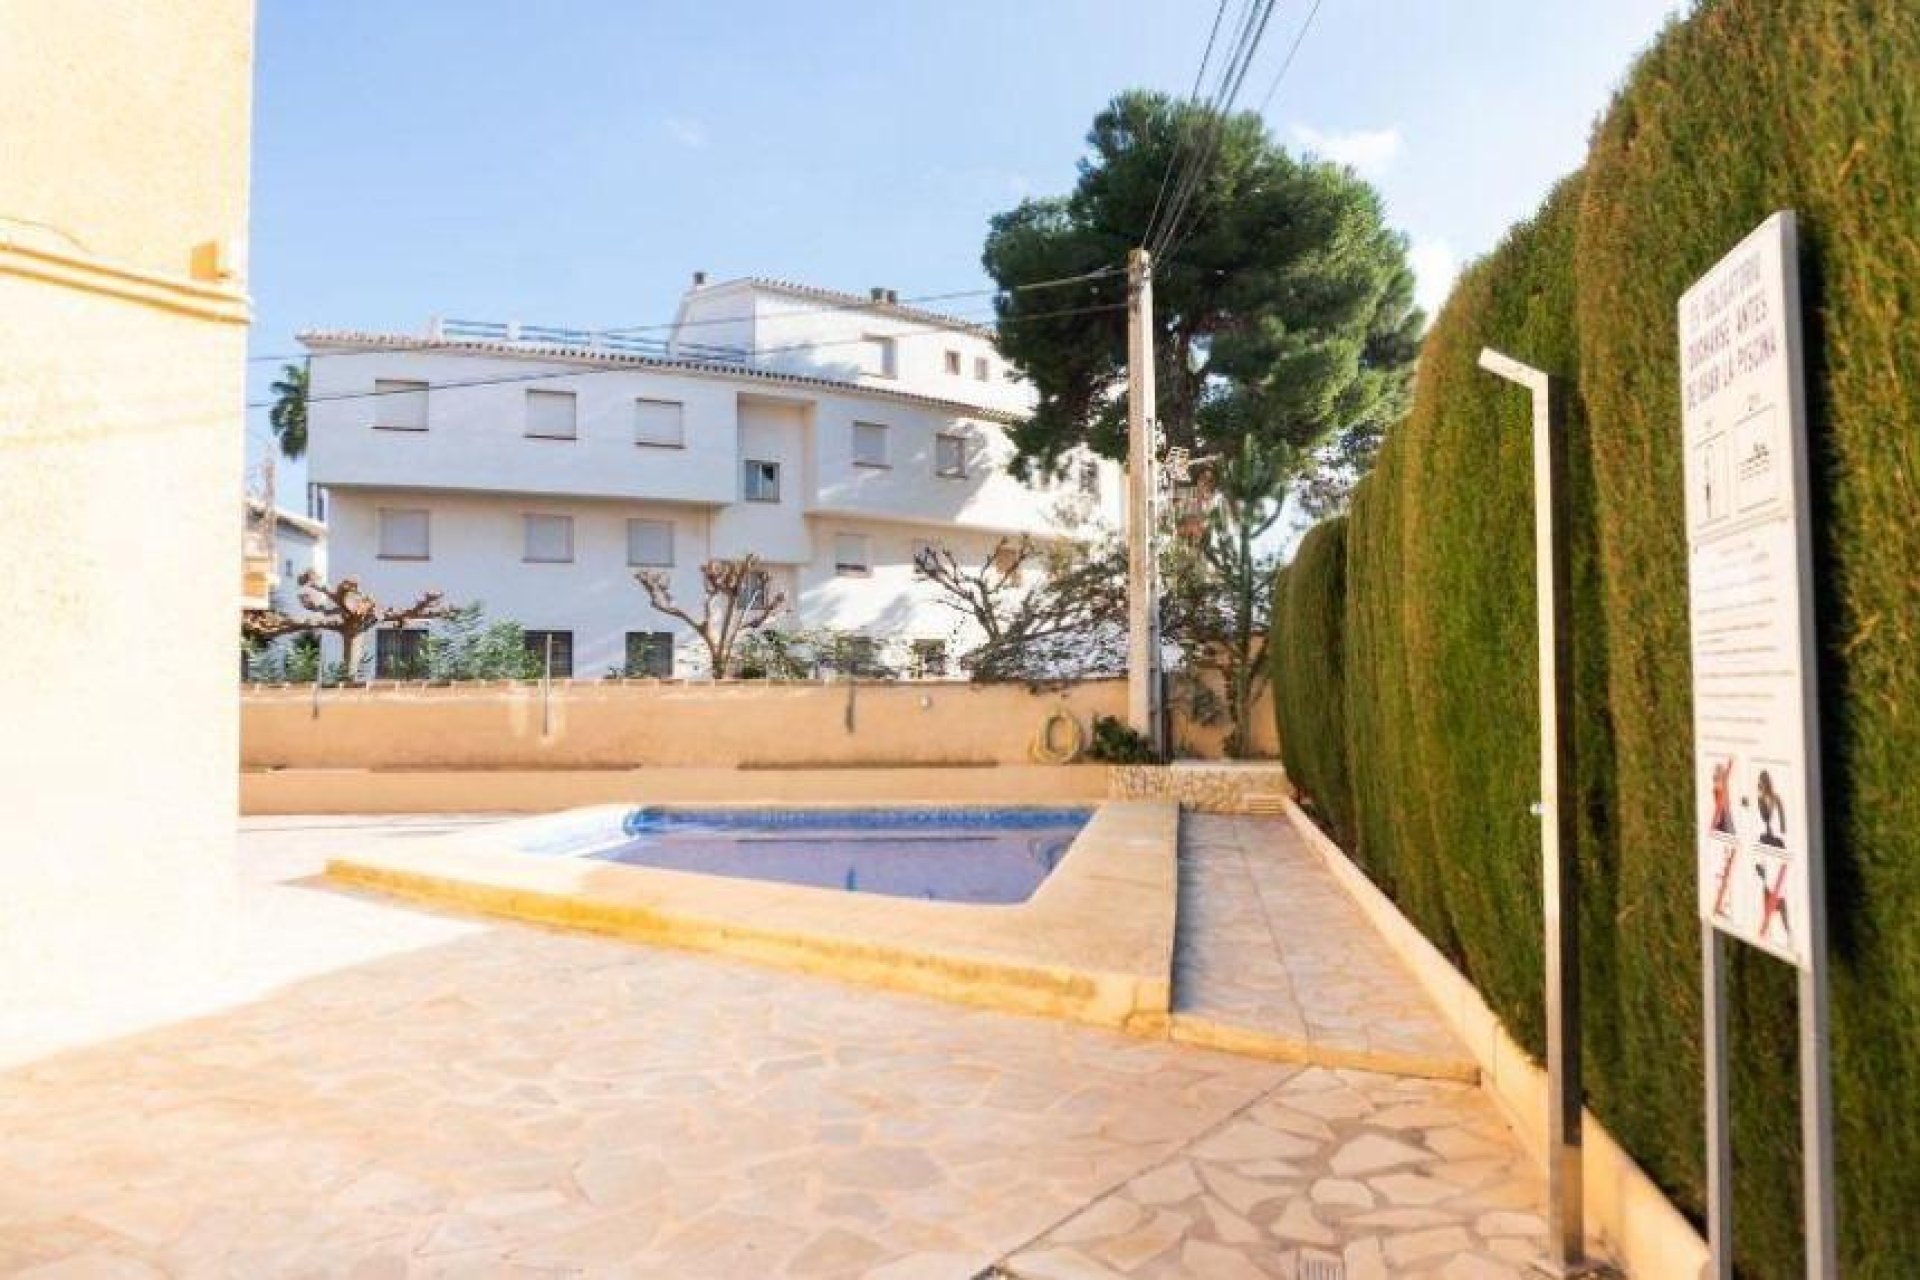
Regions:
M 735 296 L 737 301 L 739 296 Z M 722 299 L 724 301 L 724 299 Z M 983 340 L 981 340 L 983 342 Z M 793 610 L 781 626 L 945 639 L 958 616 L 914 581 L 912 551 L 939 539 L 972 562 L 1000 537 L 1062 532 L 1077 484 L 1029 487 L 1008 470 L 1012 441 L 991 416 L 860 388 L 828 390 L 714 368 L 580 367 L 545 355 L 386 349 L 380 338 L 315 336 L 309 470 L 330 491 L 330 570 L 357 576 L 382 603 L 438 589 L 453 603 L 534 629 L 574 631 L 574 672 L 624 662 L 626 631 L 676 629 L 626 566 L 626 520 L 672 518 L 676 593 L 699 603 L 699 564 L 758 555 Z M 945 347 L 941 347 L 945 349 Z M 935 349 L 933 359 L 939 359 Z M 340 355 L 346 351 L 346 355 Z M 964 367 L 964 372 L 970 367 Z M 559 378 L 538 378 L 559 372 Z M 528 376 L 538 380 L 528 382 Z M 428 393 L 428 430 L 378 430 L 376 378 L 486 382 Z M 526 438 L 526 391 L 578 393 L 576 439 Z M 346 399 L 328 399 L 328 397 Z M 685 405 L 685 447 L 634 443 L 636 397 Z M 854 424 L 887 428 L 887 464 L 854 462 Z M 935 439 L 966 436 L 968 472 L 937 470 Z M 747 503 L 743 461 L 781 466 L 780 503 Z M 1096 524 L 1117 524 L 1121 472 L 1100 464 Z M 432 512 L 432 558 L 380 560 L 380 507 Z M 574 518 L 572 564 L 528 564 L 522 514 Z M 833 535 L 870 537 L 874 572 L 839 576 Z M 972 643 L 972 641 L 968 641 Z M 685 656 L 697 654 L 689 647 Z M 699 664 L 682 662 L 684 672 Z

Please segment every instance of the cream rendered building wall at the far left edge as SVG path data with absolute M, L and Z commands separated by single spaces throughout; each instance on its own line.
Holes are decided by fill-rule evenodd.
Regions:
M 219 942 L 252 23 L 0 0 L 0 1038 Z

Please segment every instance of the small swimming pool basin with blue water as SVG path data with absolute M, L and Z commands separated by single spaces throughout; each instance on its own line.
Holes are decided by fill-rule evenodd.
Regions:
M 637 808 L 616 835 L 559 831 L 524 848 L 893 898 L 1025 902 L 1089 818 L 1081 808 Z

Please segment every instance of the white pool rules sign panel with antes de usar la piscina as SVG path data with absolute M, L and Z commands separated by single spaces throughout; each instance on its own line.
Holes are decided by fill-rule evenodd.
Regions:
M 1820 867 L 1793 215 L 1680 297 L 1699 913 L 1807 967 Z

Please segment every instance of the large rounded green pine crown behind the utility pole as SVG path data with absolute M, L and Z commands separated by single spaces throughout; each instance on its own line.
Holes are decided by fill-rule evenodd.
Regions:
M 1112 269 L 1140 244 L 1175 150 L 1219 148 L 1173 259 L 1154 271 L 1156 405 L 1175 445 L 1233 451 L 1246 434 L 1296 447 L 1388 420 L 1421 315 L 1405 238 L 1350 169 L 1298 159 L 1256 113 L 1227 119 L 1165 94 L 1116 98 L 1087 136 L 1071 196 L 998 215 L 983 263 L 1008 294 L 1000 347 L 1039 390 L 1014 428 L 1027 462 L 1073 445 L 1125 455 L 1125 276 L 1021 290 Z M 1058 315 L 1089 309 L 1079 315 Z

